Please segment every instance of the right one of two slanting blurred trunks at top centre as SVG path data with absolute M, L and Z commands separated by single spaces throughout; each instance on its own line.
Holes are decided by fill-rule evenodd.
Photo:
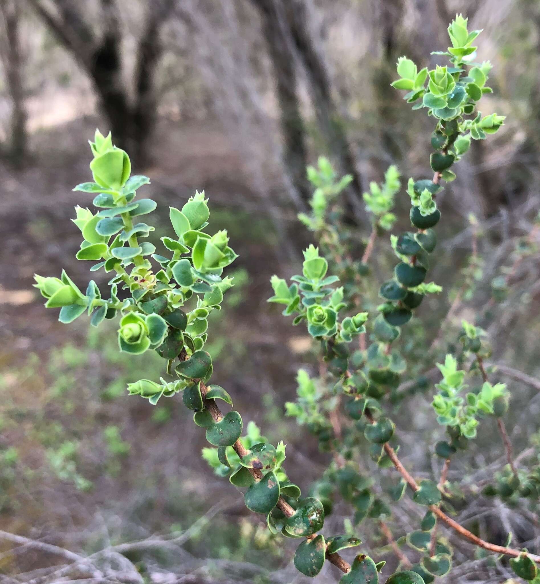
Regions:
M 357 221 L 361 221 L 364 213 L 361 204 L 363 189 L 360 173 L 356 168 L 356 159 L 347 138 L 344 120 L 332 96 L 332 79 L 310 29 L 308 8 L 305 0 L 281 0 L 281 2 L 285 8 L 294 46 L 305 68 L 320 130 L 339 165 L 340 172 L 353 176 L 353 182 L 347 189 L 350 207 L 348 214 L 352 214 Z

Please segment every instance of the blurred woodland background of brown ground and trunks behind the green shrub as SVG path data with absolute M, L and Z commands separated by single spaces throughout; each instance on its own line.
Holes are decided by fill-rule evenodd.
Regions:
M 330 455 L 284 416 L 284 403 L 294 398 L 297 369 L 314 371 L 316 360 L 309 338 L 266 304 L 269 277 L 297 271 L 310 241 L 296 216 L 311 197 L 305 167 L 319 154 L 353 176 L 342 196 L 360 253 L 370 232 L 361 194 L 370 181 L 379 182 L 389 164 L 405 178 L 430 174 L 432 124 L 389 84 L 402 54 L 434 65 L 436 57 L 427 63 L 422 55 L 447 46 L 456 12 L 485 29 L 478 59 L 493 62 L 494 94 L 483 113 L 512 115 L 488 148 L 473 141 L 445 189 L 441 208 L 451 219 L 438 235 L 444 253 L 433 276 L 450 297 L 424 303 L 421 323 L 408 325 L 414 343 L 405 351 L 433 343 L 441 361 L 461 319 L 473 321 L 489 303 L 493 278 L 510 273 L 510 294 L 486 326 L 492 362 L 538 376 L 539 256 L 515 265 L 539 202 L 538 0 L 0 0 L 0 529 L 34 541 L 0 533 L 0 578 L 88 578 L 83 562 L 62 572 L 74 561 L 62 551 L 76 550 L 100 552 L 92 582 L 307 580 L 291 566 L 290 545 L 274 541 L 200 459 L 204 437 L 189 412 L 177 400 L 152 408 L 127 398 L 126 384 L 155 377 L 159 357 L 128 361 L 108 352 L 112 329 L 64 328 L 42 309 L 32 275 L 66 267 L 77 281 L 86 270 L 75 260 L 78 233 L 68 218 L 85 204 L 71 187 L 88 179 L 86 138 L 96 126 L 111 129 L 133 155 L 134 171 L 152 178 L 147 193 L 163 225 L 154 243 L 165 234 L 167 206 L 204 188 L 214 226 L 229 230 L 240 254 L 228 310 L 212 315 L 220 332 L 210 347 L 219 356 L 215 379 L 234 393 L 246 422 L 271 442 L 288 443 L 291 479 L 307 490 Z M 396 203 L 405 225 L 404 191 Z M 482 263 L 471 264 L 471 245 Z M 381 252 L 373 272 L 383 281 L 390 266 L 391 254 Z M 450 341 L 437 339 L 456 297 L 466 302 L 445 321 Z M 438 430 L 433 380 L 416 380 L 420 373 L 406 374 L 414 402 L 393 418 L 407 430 L 409 467 L 429 477 L 433 462 L 420 445 Z M 535 447 L 529 434 L 540 399 L 523 379 L 509 387 L 508 426 L 520 453 Z M 486 457 L 503 460 L 495 432 L 483 435 L 450 480 L 470 476 L 474 491 L 492 476 Z M 540 535 L 534 509 L 514 513 L 508 502 L 455 497 L 461 520 L 482 537 Z M 338 507 L 330 519 L 337 531 L 345 524 L 391 561 L 369 523 L 354 528 L 346 511 Z M 405 526 L 407 513 L 417 520 L 406 508 Z M 447 580 L 511 577 L 481 562 Z M 335 581 L 332 569 L 319 580 Z

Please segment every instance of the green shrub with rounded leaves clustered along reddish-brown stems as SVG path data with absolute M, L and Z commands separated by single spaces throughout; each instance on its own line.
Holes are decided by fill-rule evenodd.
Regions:
M 246 489 L 246 507 L 265 517 L 271 534 L 299 541 L 294 564 L 309 577 L 316 576 L 329 561 L 344 573 L 341 584 L 378 584 L 384 561 L 376 563 L 361 553 L 349 564 L 340 554 L 361 544 L 354 528 L 369 518 L 375 520 L 400 565 L 406 568 L 390 575 L 386 584 L 430 584 L 450 571 L 453 552 L 451 545 L 437 535 L 438 520 L 478 547 L 512 557 L 510 564 L 522 578 L 536 578 L 540 557 L 508 547 L 510 541 L 504 546 L 488 543 L 441 509 L 452 457 L 475 439 L 486 416 L 497 418 L 511 475 L 504 469 L 496 478 L 496 486 L 486 485 L 485 489 L 501 497 L 537 499 L 540 495 L 540 470 L 533 468 L 525 475 L 512 461 L 501 419 L 508 409 L 510 393 L 506 385 L 492 385 L 488 380 L 483 363 L 490 354 L 485 332 L 463 321 L 459 361 L 449 353 L 444 363 L 437 363 L 442 379 L 435 385 L 433 410 L 446 433 L 445 440 L 434 449 L 434 454 L 444 460 L 438 483 L 428 479 L 417 482 L 406 470 L 398 457 L 396 426 L 384 415 L 389 406 L 398 404 L 415 387 L 410 381 L 399 383 L 407 369 L 396 344 L 402 327 L 428 294 L 442 291 L 438 284 L 425 281 L 430 254 L 437 245 L 433 228 L 441 219 L 437 195 L 443 183 L 455 178 L 451 167 L 469 150 L 471 140 L 485 140 L 504 122 L 503 116 L 482 116 L 477 110 L 482 96 L 492 92 L 486 86 L 491 65 L 487 61 L 473 62 L 476 47 L 472 43 L 481 31 L 469 32 L 467 26 L 467 19 L 456 16 L 448 27 L 452 46 L 436 53 L 448 58 L 450 65 L 418 71 L 413 61 L 405 57 L 398 60 L 400 78 L 392 85 L 407 91 L 405 99 L 414 104 L 413 109 L 425 107 L 436 120 L 431 135 L 434 152 L 430 156 L 434 174 L 431 180 L 410 178 L 407 183 L 414 231 L 390 236 L 399 263 L 393 277 L 378 290 L 382 304 L 376 305 L 367 287 L 368 261 L 377 238 L 391 231 L 397 220 L 392 210 L 401 187 L 398 169 L 390 166 L 384 182 L 372 182 L 369 192 L 364 193 L 372 231 L 361 256 L 356 234 L 344 225 L 339 204 L 339 195 L 351 176 L 337 178 L 323 157 L 316 168 L 307 169 L 314 187 L 312 212 L 299 215 L 299 220 L 315 234 L 322 253 L 310 245 L 304 251 L 302 273 L 292 276 L 290 283 L 273 276 L 274 295 L 269 301 L 283 304 L 283 315 L 292 317 L 293 325 L 306 326 L 318 350 L 319 377 L 299 370 L 297 400 L 286 404 L 287 415 L 315 434 L 320 450 L 332 453 L 329 467 L 312 485 L 309 496 L 301 497 L 301 489 L 284 470 L 285 444 L 273 446 L 253 422 L 244 426 L 241 415 L 232 409 L 228 392 L 210 383 L 212 359 L 204 350 L 208 317 L 221 310 L 224 294 L 234 285 L 232 278 L 224 276 L 224 269 L 237 256 L 229 246 L 227 231 L 213 235 L 205 231 L 210 210 L 204 192 L 196 192 L 181 210 L 170 207 L 174 234 L 161 238 L 165 255 L 156 253 L 153 244 L 141 242 L 154 227 L 140 219 L 134 221 L 156 207 L 151 199 L 135 200 L 137 190 L 149 179 L 131 176 L 127 153 L 113 145 L 110 134 L 103 136 L 96 131 L 90 142 L 93 182 L 81 183 L 74 190 L 95 194 L 93 204 L 100 210 L 94 214 L 88 208 L 76 207 L 74 223 L 83 236 L 76 257 L 97 262 L 90 268 L 92 272 L 111 274 L 109 298 L 102 297 L 94 281 L 83 294 L 65 272 L 61 278 L 36 276 L 35 286 L 46 298 L 46 307 L 61 309 L 61 322 L 72 322 L 84 312 L 88 312 L 92 326 L 120 317 L 118 342 L 122 352 L 136 356 L 155 350 L 165 360 L 164 377 L 159 383 L 138 380 L 128 384 L 129 393 L 148 399 L 152 405 L 182 393 L 184 405 L 193 411 L 194 423 L 204 429 L 211 445 L 203 449 L 205 460 L 218 475 Z M 358 256 L 361 259 L 355 260 Z M 339 281 L 342 286 L 335 287 Z M 119 298 L 119 287 L 126 292 L 125 300 Z M 500 293 L 501 286 L 494 288 Z M 471 353 L 483 385 L 464 396 L 466 372 L 459 370 L 458 364 Z M 432 362 L 428 366 L 433 370 Z M 476 370 L 471 368 L 471 377 Z M 222 413 L 218 399 L 231 410 Z M 366 448 L 379 467 L 396 468 L 398 484 L 382 492 L 372 488 L 374 479 L 358 471 L 358 455 Z M 407 544 L 420 553 L 416 564 L 400 549 L 387 521 L 392 512 L 389 505 L 405 496 L 407 486 L 414 503 L 426 509 L 420 529 L 406 538 Z M 325 516 L 332 512 L 338 498 L 354 510 L 353 521 L 344 523 L 346 533 L 323 536 L 320 531 Z

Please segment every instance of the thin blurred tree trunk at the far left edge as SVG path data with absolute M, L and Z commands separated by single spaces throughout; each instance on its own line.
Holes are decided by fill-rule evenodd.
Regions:
M 21 168 L 26 159 L 26 109 L 25 90 L 22 79 L 22 54 L 19 25 L 20 4 L 17 0 L 0 0 L 0 12 L 4 19 L 5 43 L 2 46 L 2 60 L 6 71 L 6 85 L 12 102 L 9 122 L 8 158 L 16 168 Z

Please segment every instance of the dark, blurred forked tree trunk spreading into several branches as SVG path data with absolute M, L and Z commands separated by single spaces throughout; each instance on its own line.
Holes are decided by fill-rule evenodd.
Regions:
M 116 0 L 100 0 L 104 30 L 93 32 L 71 0 L 54 0 L 58 15 L 42 0 L 28 0 L 44 23 L 92 79 L 114 142 L 129 150 L 135 164 L 148 162 L 148 142 L 156 119 L 155 70 L 163 47 L 159 30 L 173 7 L 172 0 L 149 2 L 145 29 L 137 47 L 135 98 L 123 78 L 122 33 Z

